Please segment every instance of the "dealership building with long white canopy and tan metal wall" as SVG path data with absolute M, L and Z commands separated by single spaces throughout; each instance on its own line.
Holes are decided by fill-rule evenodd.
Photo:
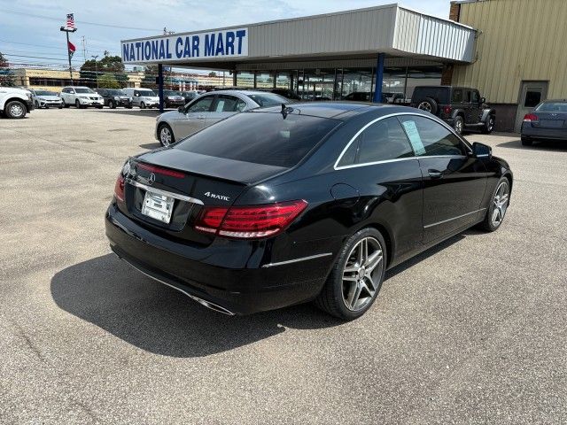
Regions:
M 160 75 L 164 66 L 226 71 L 232 86 L 306 100 L 360 93 L 407 103 L 418 85 L 472 87 L 505 131 L 540 100 L 567 97 L 567 1 L 454 1 L 448 18 L 388 4 L 124 40 L 120 51 Z

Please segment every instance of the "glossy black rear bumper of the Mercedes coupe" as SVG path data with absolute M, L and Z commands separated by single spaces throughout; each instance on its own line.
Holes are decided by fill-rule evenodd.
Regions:
M 191 298 L 235 314 L 274 310 L 315 298 L 332 262 L 332 256 L 325 255 L 270 266 L 269 250 L 258 241 L 221 241 L 208 247 L 177 243 L 139 226 L 115 205 L 108 208 L 105 228 L 120 259 Z M 254 262 L 257 267 L 250 267 Z

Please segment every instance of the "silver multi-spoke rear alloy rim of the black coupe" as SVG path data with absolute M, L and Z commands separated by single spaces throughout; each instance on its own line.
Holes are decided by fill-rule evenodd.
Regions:
M 343 269 L 343 301 L 346 308 L 360 311 L 376 297 L 384 267 L 382 245 L 374 237 L 356 243 Z

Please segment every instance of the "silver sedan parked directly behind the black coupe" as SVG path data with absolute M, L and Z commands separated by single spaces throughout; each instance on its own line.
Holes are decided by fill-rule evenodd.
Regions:
M 155 136 L 162 146 L 168 146 L 235 113 L 289 103 L 289 99 L 265 91 L 211 91 L 180 106 L 177 111 L 159 115 Z

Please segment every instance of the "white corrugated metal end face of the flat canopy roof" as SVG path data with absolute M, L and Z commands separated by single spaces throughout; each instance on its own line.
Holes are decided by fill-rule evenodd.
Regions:
M 476 31 L 445 19 L 399 8 L 393 48 L 418 55 L 472 62 Z

